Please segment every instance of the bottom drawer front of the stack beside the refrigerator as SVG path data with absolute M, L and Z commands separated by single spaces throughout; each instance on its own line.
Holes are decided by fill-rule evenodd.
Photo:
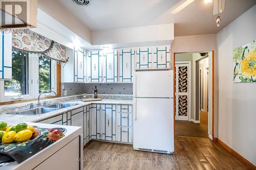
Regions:
M 116 140 L 120 142 L 132 143 L 133 142 L 133 128 L 130 127 L 117 127 Z

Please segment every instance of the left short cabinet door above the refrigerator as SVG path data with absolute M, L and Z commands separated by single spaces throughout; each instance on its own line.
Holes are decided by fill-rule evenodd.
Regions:
M 141 47 L 136 50 L 136 69 L 152 68 L 152 48 Z

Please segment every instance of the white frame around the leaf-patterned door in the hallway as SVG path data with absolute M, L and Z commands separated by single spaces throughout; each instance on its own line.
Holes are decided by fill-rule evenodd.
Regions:
M 188 117 L 188 121 L 191 121 L 191 61 L 175 61 L 175 65 L 176 64 L 188 64 L 188 88 L 187 88 L 188 89 L 188 115 L 187 115 L 187 117 Z M 174 67 L 174 69 L 175 69 L 175 67 Z M 176 71 L 175 71 L 175 74 L 176 74 Z M 175 86 L 176 86 L 176 82 L 175 82 Z M 175 95 L 176 95 L 176 89 L 175 89 Z M 176 106 L 176 105 L 174 105 L 174 106 Z

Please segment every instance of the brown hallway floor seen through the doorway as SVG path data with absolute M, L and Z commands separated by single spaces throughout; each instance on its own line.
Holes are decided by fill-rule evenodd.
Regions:
M 175 134 L 177 136 L 208 138 L 208 113 L 200 111 L 200 124 L 175 120 Z

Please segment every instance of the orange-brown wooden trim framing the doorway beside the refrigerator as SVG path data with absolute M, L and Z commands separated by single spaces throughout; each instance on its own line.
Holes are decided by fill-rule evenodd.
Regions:
M 215 53 L 214 51 L 208 51 L 209 53 L 211 53 L 211 57 L 209 55 L 209 71 L 211 71 L 211 90 L 210 90 L 210 83 L 209 83 L 209 94 L 211 92 L 211 107 L 209 107 L 209 110 L 211 109 L 211 135 L 208 134 L 208 137 L 211 139 L 211 140 L 214 140 L 214 141 L 217 141 L 217 138 L 214 137 L 214 112 L 215 112 L 215 109 L 214 109 L 214 104 L 215 104 L 215 63 L 214 63 L 214 59 L 215 59 Z M 197 53 L 197 52 L 181 52 L 181 53 Z M 175 105 L 175 91 L 176 91 L 176 83 L 175 83 L 175 77 L 176 77 L 176 72 L 175 72 L 175 57 L 176 57 L 176 54 L 177 53 L 174 53 L 174 57 L 173 57 L 173 70 L 174 70 L 174 105 Z M 211 66 L 211 69 L 210 69 L 210 66 Z M 209 80 L 210 80 L 210 76 L 209 76 Z M 209 81 L 210 82 L 210 81 Z M 209 103 L 210 103 L 210 99 L 209 99 Z M 174 107 L 174 137 L 175 137 L 175 114 L 176 114 L 176 109 Z M 210 125 L 210 122 L 208 122 L 208 127 Z M 209 128 L 208 128 L 208 131 L 209 131 Z

